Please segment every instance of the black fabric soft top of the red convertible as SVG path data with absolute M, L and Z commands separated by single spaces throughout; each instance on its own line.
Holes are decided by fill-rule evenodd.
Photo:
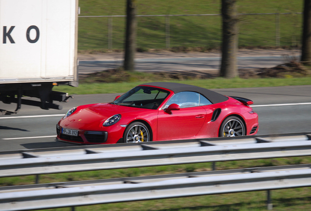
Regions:
M 171 82 L 151 82 L 151 83 L 146 83 L 146 84 L 141 84 L 141 85 L 151 85 L 151 86 L 162 87 L 162 88 L 170 89 L 174 93 L 178 93 L 182 91 L 198 92 L 202 94 L 204 97 L 206 97 L 213 104 L 222 103 L 228 100 L 228 97 L 223 96 L 222 94 L 219 94 L 217 92 L 214 92 L 212 90 L 205 89 L 199 86 L 194 86 L 194 85 L 171 83 Z

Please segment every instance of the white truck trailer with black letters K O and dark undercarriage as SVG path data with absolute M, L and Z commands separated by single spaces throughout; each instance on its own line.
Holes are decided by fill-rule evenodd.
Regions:
M 61 109 L 78 85 L 78 0 L 0 0 L 0 100 Z M 23 96 L 40 100 L 24 100 Z M 32 98 L 30 98 L 32 99 Z

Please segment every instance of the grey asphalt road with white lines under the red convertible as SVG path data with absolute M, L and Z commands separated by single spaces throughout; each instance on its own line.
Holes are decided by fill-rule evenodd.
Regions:
M 259 133 L 275 134 L 311 131 L 311 85 L 262 88 L 214 89 L 228 96 L 254 101 L 259 115 Z M 55 141 L 56 124 L 68 109 L 77 105 L 111 102 L 118 94 L 76 95 L 62 104 L 63 110 L 42 110 L 22 105 L 16 115 L 0 116 L 0 151 L 75 146 Z M 15 104 L 0 103 L 14 110 Z

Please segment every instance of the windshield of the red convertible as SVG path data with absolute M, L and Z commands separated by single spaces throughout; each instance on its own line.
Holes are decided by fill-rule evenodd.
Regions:
M 157 109 L 169 94 L 169 91 L 160 88 L 136 86 L 112 103 L 116 105 Z

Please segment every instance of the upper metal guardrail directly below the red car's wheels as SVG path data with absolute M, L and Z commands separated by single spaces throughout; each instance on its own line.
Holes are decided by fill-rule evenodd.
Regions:
M 0 177 L 311 155 L 311 135 L 149 142 L 0 153 Z M 231 142 L 231 144 L 228 144 Z

